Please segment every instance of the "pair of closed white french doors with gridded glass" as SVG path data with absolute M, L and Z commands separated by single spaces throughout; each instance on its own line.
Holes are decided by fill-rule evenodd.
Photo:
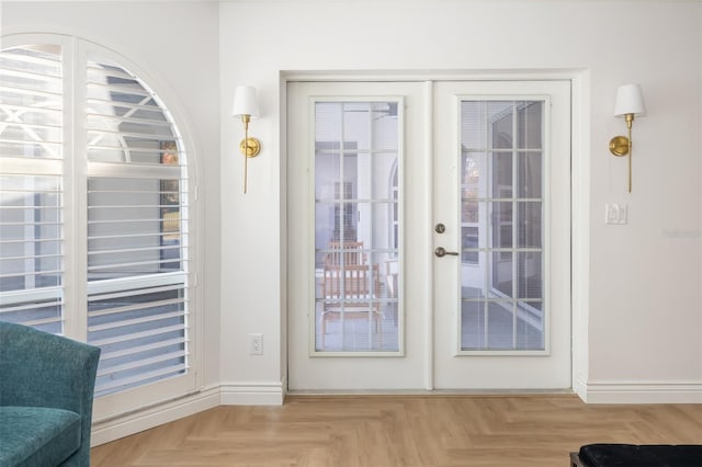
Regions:
M 290 389 L 570 387 L 569 83 L 287 95 Z

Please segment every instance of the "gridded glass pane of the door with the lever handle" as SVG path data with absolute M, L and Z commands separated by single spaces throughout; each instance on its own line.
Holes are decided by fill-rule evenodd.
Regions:
M 461 349 L 544 350 L 542 101 L 461 103 Z

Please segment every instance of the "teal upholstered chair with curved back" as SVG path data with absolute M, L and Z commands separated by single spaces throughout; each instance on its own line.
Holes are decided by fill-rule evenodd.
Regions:
M 0 466 L 90 465 L 100 349 L 0 322 Z

